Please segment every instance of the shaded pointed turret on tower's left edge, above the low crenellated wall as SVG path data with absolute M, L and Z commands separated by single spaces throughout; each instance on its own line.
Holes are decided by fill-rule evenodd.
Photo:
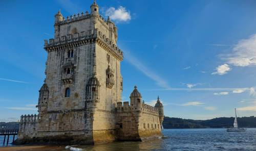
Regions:
M 38 98 L 38 112 L 46 112 L 47 104 L 49 99 L 49 88 L 47 84 L 43 84 L 39 90 L 39 98 Z

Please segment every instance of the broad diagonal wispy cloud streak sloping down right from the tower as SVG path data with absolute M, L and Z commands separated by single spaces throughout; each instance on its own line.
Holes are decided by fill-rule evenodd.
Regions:
M 161 77 L 159 77 L 159 75 L 156 74 L 156 71 L 152 71 L 151 69 L 147 68 L 144 64 L 142 64 L 137 58 L 132 56 L 129 52 L 124 51 L 124 58 L 126 59 L 126 61 L 128 61 L 133 66 L 135 66 L 138 70 L 144 73 L 148 78 L 154 80 L 158 86 L 165 89 L 170 88 L 167 82 Z

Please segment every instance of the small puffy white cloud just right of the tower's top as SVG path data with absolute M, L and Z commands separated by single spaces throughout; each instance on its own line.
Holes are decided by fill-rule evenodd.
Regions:
M 130 12 L 122 6 L 119 6 L 118 9 L 115 9 L 114 7 L 107 9 L 105 15 L 110 16 L 112 20 L 116 21 L 125 22 L 131 20 Z

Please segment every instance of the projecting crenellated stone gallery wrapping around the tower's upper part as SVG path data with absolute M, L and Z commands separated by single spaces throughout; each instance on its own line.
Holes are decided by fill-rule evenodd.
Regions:
M 69 34 L 67 36 L 61 36 L 61 38 L 56 37 L 55 39 L 49 39 L 49 43 L 48 40 L 45 40 L 45 49 L 49 53 L 95 42 L 119 61 L 123 60 L 123 52 L 121 49 L 97 29 L 88 31 L 87 33 L 81 32 L 80 34 L 75 33 L 74 35 Z

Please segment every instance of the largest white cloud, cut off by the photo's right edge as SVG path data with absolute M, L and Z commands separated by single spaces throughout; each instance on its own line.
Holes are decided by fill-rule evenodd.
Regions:
M 223 59 L 234 66 L 256 65 L 256 34 L 240 40 Z

